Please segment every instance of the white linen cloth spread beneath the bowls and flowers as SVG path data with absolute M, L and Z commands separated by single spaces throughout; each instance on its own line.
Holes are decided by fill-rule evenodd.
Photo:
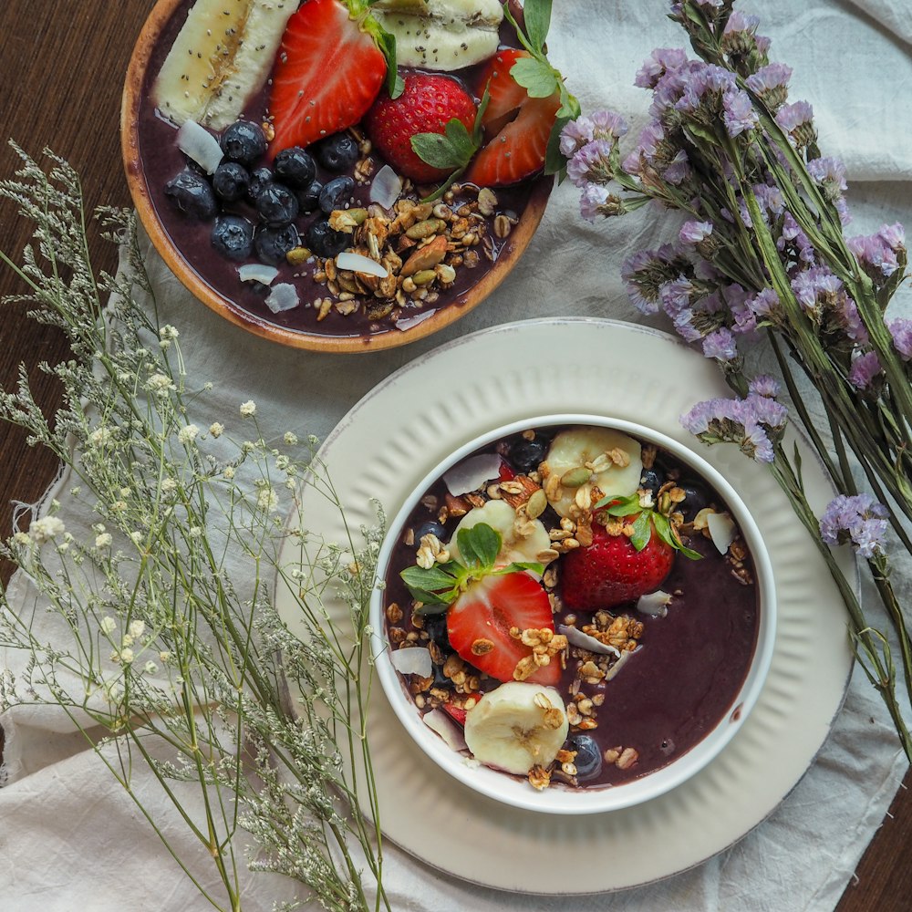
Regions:
M 912 140 L 907 131 L 912 122 L 912 93 L 907 90 L 912 85 L 912 25 L 906 0 L 766 0 L 739 2 L 738 8 L 762 16 L 760 31 L 772 37 L 772 59 L 794 68 L 792 99 L 812 101 L 824 154 L 845 161 L 855 214 L 852 232 L 912 222 Z M 649 102 L 648 93 L 632 85 L 637 68 L 653 47 L 684 44 L 683 31 L 664 15 L 667 9 L 665 0 L 555 2 L 551 57 L 585 111 L 617 109 L 636 135 Z M 523 261 L 489 301 L 438 336 L 366 356 L 286 350 L 249 336 L 193 301 L 154 253 L 149 264 L 161 322 L 179 328 L 189 373 L 201 383 L 215 384 L 207 399 L 212 414 L 193 414 L 191 420 L 206 427 L 223 415 L 236 415 L 239 403 L 254 399 L 267 440 L 285 430 L 324 437 L 381 378 L 461 334 L 533 316 L 643 321 L 627 304 L 621 261 L 670 238 L 677 225 L 673 214 L 651 209 L 612 223 L 584 223 L 577 194 L 566 184 L 555 190 Z M 663 326 L 658 318 L 650 322 Z M 78 506 L 60 496 L 67 528 L 76 531 L 80 523 L 85 528 Z M 897 567 L 896 579 L 908 580 L 910 570 L 908 564 Z M 26 580 L 17 578 L 11 595 L 26 604 Z M 877 617 L 873 590 L 865 588 L 864 596 Z M 3 661 L 14 669 L 22 665 L 16 655 Z M 0 897 L 6 912 L 207 907 L 133 803 L 70 730 L 66 717 L 50 710 L 21 710 L 3 724 Z M 689 872 L 615 895 L 506 896 L 431 871 L 387 845 L 386 888 L 397 912 L 530 907 L 824 912 L 835 906 L 852 877 L 905 769 L 886 712 L 856 668 L 830 738 L 793 793 L 740 843 Z M 166 812 L 150 794 L 151 809 Z M 214 886 L 205 859 L 198 859 L 199 864 L 193 860 L 199 853 L 181 822 L 167 812 L 164 819 L 177 851 L 185 851 L 202 881 Z M 565 862 L 559 847 L 546 851 L 544 858 L 554 865 Z M 256 876 L 245 891 L 244 909 L 269 909 L 293 894 L 293 887 L 279 878 Z

